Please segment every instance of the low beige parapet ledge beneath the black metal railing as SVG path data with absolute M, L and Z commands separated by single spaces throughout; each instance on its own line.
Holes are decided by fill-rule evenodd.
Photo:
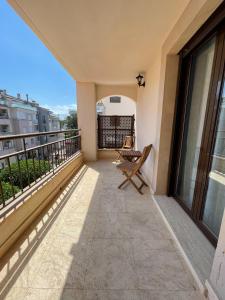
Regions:
M 0 257 L 57 196 L 82 164 L 82 153 L 74 155 L 55 169 L 54 174 L 49 173 L 1 211 Z

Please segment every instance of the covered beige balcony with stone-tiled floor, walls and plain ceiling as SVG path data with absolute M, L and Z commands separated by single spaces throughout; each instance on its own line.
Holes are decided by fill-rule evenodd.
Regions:
M 0 189 L 0 256 L 5 254 L 1 296 L 19 300 L 190 300 L 203 295 L 209 300 L 225 299 L 224 176 L 208 172 L 224 95 L 225 2 L 8 2 L 76 80 L 82 151 L 70 155 L 67 137 L 61 142 L 43 141 L 46 144 L 37 148 L 21 147 L 28 188 L 22 190 L 18 180 L 18 193 L 12 187 L 11 156 L 4 157 L 11 197 Z M 192 76 L 197 65 L 201 66 L 199 76 Z M 136 81 L 139 72 L 144 82 Z M 153 145 L 142 168 L 151 187 L 144 196 L 132 186 L 117 189 L 121 177 L 113 164 L 115 152 L 105 150 L 120 147 L 127 131 L 117 132 L 115 119 L 113 133 L 97 137 L 96 103 L 111 96 L 125 96 L 136 105 L 136 148 Z M 192 100 L 195 118 L 189 116 Z M 185 142 L 189 120 L 196 143 Z M 199 121 L 201 126 L 196 126 Z M 58 143 L 62 143 L 62 154 Z M 181 152 L 193 146 L 194 153 L 194 145 L 202 153 L 191 170 L 183 167 Z M 46 155 L 49 148 L 50 156 Z M 44 174 L 37 178 L 33 161 L 45 155 L 47 169 L 41 165 Z M 98 160 L 104 157 L 110 160 Z M 194 154 L 187 162 L 195 159 Z M 20 157 L 17 161 L 20 165 Z M 185 197 L 179 199 L 181 169 L 187 170 L 189 180 Z M 190 209 L 184 200 L 193 191 L 195 173 Z M 208 179 L 221 185 L 212 192 L 209 214 L 217 227 L 221 224 L 216 236 L 202 218 Z M 214 198 L 219 199 L 217 207 Z

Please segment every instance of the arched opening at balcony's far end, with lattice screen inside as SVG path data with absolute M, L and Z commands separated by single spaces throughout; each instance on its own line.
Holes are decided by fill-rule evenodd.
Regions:
M 136 133 L 136 102 L 123 95 L 110 95 L 97 101 L 98 149 L 121 148 L 125 136 Z

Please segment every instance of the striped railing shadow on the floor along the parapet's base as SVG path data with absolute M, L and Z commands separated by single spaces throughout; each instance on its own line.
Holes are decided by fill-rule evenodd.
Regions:
M 6 297 L 24 267 L 32 258 L 38 247 L 41 246 L 42 240 L 51 229 L 51 226 L 54 224 L 86 171 L 87 166 L 80 170 L 78 176 L 74 176 L 73 180 L 64 188 L 57 200 L 50 202 L 32 226 L 24 232 L 23 237 L 1 258 L 0 299 Z

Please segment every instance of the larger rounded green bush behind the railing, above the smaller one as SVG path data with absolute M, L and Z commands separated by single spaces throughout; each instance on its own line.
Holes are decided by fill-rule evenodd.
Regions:
M 17 162 L 12 163 L 10 166 L 11 182 L 13 185 L 19 187 L 22 186 L 23 188 L 29 185 L 29 181 L 30 183 L 33 182 L 36 178 L 39 178 L 51 168 L 48 161 L 38 161 L 35 159 L 34 164 L 32 159 L 28 159 L 27 164 L 25 160 L 21 160 L 20 171 Z M 8 167 L 0 171 L 0 179 L 5 183 L 10 182 L 10 170 Z

